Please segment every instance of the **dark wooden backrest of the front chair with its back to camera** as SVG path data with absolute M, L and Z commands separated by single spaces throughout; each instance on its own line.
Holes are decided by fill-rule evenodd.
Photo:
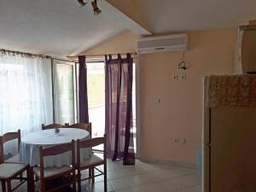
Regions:
M 64 154 L 68 151 L 72 153 L 72 162 L 71 165 L 75 167 L 75 142 L 72 140 L 71 143 L 65 143 L 60 145 L 55 145 L 49 148 L 39 148 L 39 157 L 40 157 L 40 177 L 44 178 L 44 157 L 54 156 L 57 154 Z

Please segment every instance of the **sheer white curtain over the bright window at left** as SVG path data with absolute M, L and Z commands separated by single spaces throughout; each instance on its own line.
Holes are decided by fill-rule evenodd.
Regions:
M 53 122 L 49 59 L 0 55 L 0 134 L 21 136 Z

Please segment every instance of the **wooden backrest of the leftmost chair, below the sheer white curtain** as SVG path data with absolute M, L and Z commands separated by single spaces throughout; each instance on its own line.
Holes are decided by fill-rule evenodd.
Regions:
M 16 132 L 7 132 L 3 134 L 3 136 L 0 136 L 0 163 L 4 162 L 3 144 L 15 139 L 18 140 L 18 151 L 20 151 L 20 130 Z

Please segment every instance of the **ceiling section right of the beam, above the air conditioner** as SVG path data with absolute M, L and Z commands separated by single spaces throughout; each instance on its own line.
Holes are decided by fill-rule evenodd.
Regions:
M 256 0 L 138 0 L 154 33 L 236 27 L 256 20 Z

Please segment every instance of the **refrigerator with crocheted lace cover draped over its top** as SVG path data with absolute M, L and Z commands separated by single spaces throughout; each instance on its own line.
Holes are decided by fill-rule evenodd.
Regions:
M 204 79 L 203 192 L 256 192 L 256 76 Z

